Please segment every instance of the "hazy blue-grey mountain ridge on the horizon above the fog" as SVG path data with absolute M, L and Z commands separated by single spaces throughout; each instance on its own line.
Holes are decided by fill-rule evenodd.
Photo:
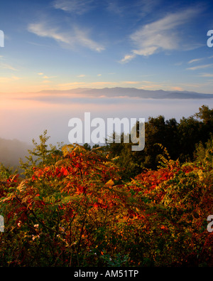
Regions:
M 187 91 L 143 90 L 137 88 L 77 88 L 72 90 L 43 90 L 46 95 L 65 94 L 67 96 L 83 95 L 84 97 L 141 97 L 151 99 L 209 99 L 213 94 Z

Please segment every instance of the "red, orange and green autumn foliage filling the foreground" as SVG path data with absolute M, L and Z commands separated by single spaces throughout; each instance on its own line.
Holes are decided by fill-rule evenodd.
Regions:
M 197 117 L 204 117 L 201 112 Z M 182 121 L 182 132 L 192 119 Z M 122 165 L 110 147 L 48 149 L 46 134 L 40 144 L 33 140 L 35 149 L 21 161 L 23 176 L 1 166 L 1 266 L 213 265 L 210 134 L 206 142 L 197 139 L 192 161 L 170 159 L 164 144 L 155 142 L 158 166 L 141 167 L 136 176 L 124 169 L 123 144 Z

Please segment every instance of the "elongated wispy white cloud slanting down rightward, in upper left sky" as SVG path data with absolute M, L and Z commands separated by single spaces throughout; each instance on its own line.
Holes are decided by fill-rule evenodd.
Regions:
M 92 51 L 101 52 L 104 46 L 89 38 L 87 31 L 83 31 L 76 26 L 72 31 L 60 31 L 59 28 L 50 27 L 47 23 L 31 23 L 28 26 L 28 31 L 35 33 L 40 37 L 53 38 L 65 48 L 75 48 L 76 46 L 83 46 Z

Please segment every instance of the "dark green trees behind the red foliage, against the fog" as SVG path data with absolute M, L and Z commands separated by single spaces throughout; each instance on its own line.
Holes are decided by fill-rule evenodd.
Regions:
M 121 174 L 122 179 L 129 180 L 141 169 L 157 169 L 161 149 L 156 143 L 166 147 L 171 159 L 179 159 L 180 163 L 193 161 L 196 145 L 205 144 L 213 133 L 213 109 L 202 105 L 198 113 L 182 117 L 180 122 L 175 118 L 165 120 L 161 115 L 149 117 L 145 128 L 145 148 L 141 152 L 132 152 L 131 144 L 108 144 L 112 157 L 119 156 L 116 164 L 128 168 Z

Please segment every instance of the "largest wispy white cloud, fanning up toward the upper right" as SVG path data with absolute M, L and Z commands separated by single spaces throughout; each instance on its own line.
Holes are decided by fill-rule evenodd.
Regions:
M 187 46 L 183 47 L 184 45 L 181 44 L 182 38 L 178 31 L 198 13 L 198 9 L 186 9 L 142 26 L 130 36 L 136 49 L 125 55 L 120 62 L 127 63 L 136 55 L 148 56 L 159 51 L 178 50 L 180 47 L 187 49 Z

